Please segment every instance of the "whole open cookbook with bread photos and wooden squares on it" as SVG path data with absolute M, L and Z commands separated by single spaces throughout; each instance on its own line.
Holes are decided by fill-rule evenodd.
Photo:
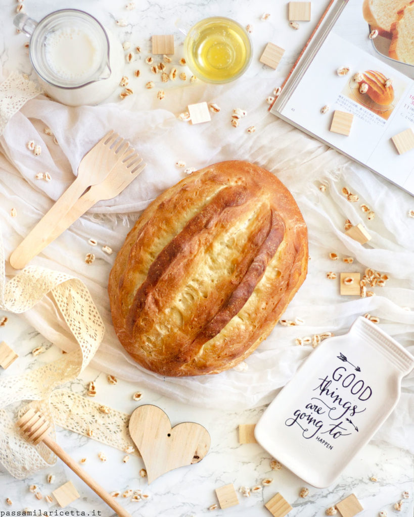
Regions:
M 413 34 L 414 0 L 331 0 L 271 113 L 414 195 Z

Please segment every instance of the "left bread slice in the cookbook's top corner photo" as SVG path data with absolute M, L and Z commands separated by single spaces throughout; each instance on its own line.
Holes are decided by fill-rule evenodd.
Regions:
M 409 0 L 364 0 L 362 13 L 371 29 L 391 38 L 391 26 L 397 19 L 397 12 L 408 3 Z

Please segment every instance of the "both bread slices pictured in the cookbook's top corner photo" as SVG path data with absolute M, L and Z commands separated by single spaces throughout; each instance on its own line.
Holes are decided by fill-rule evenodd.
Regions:
M 401 63 L 414 65 L 414 0 L 364 0 L 363 17 L 375 49 Z

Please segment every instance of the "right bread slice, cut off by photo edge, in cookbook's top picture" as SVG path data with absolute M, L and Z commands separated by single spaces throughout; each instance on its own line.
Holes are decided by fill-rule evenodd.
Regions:
M 389 56 L 414 65 L 414 0 L 398 11 L 391 32 Z

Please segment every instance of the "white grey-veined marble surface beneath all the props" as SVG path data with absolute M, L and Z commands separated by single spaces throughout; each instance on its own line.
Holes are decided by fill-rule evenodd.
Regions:
M 313 14 L 309 23 L 302 23 L 299 31 L 293 31 L 287 23 L 287 3 L 276 1 L 250 1 L 238 2 L 235 0 L 190 2 L 179 0 L 168 2 L 140 1 L 136 2 L 135 9 L 127 10 L 124 2 L 110 2 L 109 0 L 72 0 L 70 7 L 82 8 L 91 12 L 102 23 L 111 29 L 121 42 L 130 41 L 131 47 L 140 45 L 141 54 L 134 56 L 134 62 L 125 65 L 126 74 L 131 77 L 131 87 L 138 88 L 140 95 L 130 99 L 129 108 L 140 109 L 147 107 L 152 102 L 152 94 L 139 85 L 151 79 L 149 71 L 142 68 L 142 76 L 133 78 L 131 70 L 139 68 L 143 59 L 150 52 L 151 34 L 173 33 L 176 42 L 176 55 L 182 55 L 182 42 L 186 28 L 192 23 L 207 16 L 222 14 L 238 20 L 241 24 L 252 24 L 254 32 L 252 40 L 254 44 L 254 56 L 252 65 L 246 72 L 247 77 L 259 75 L 263 80 L 269 80 L 270 92 L 273 87 L 282 83 L 290 66 L 294 63 L 300 49 L 312 32 L 312 29 L 322 12 L 326 2 L 314 0 L 312 2 Z M 12 18 L 15 14 L 16 3 L 0 0 L 3 16 L 0 19 L 0 63 L 3 72 L 17 69 L 24 71 L 33 77 L 33 72 L 27 57 L 24 43 L 27 41 L 22 34 L 16 35 L 12 26 Z M 62 0 L 51 2 L 50 0 L 35 2 L 25 0 L 25 10 L 29 16 L 40 19 L 45 14 L 68 5 Z M 268 20 L 261 20 L 263 13 L 270 13 Z M 115 20 L 125 19 L 126 26 L 120 27 Z M 258 62 L 265 43 L 274 43 L 286 48 L 286 53 L 276 72 L 262 66 Z M 146 75 L 147 74 L 147 75 Z M 181 87 L 180 84 L 167 84 L 169 87 Z M 117 90 L 109 100 L 119 101 L 120 90 Z M 150 96 L 151 95 L 151 96 Z M 6 315 L 0 312 L 0 318 Z M 45 338 L 40 336 L 32 328 L 29 328 L 18 315 L 7 314 L 7 324 L 0 327 L 0 340 L 13 343 L 13 347 L 19 353 L 19 361 L 8 370 L 2 371 L 3 376 L 12 376 L 22 372 L 25 368 L 37 368 L 43 362 L 50 362 L 60 356 L 61 352 Z M 44 346 L 46 352 L 33 358 L 31 352 L 36 346 Z M 143 467 L 142 460 L 130 457 L 128 463 L 123 463 L 124 452 L 101 445 L 92 439 L 75 435 L 69 431 L 58 429 L 57 440 L 65 450 L 75 459 L 86 458 L 85 470 L 91 474 L 106 490 L 112 492 L 119 490 L 121 493 L 127 489 L 141 490 L 149 495 L 146 500 L 132 502 L 130 498 L 120 498 L 121 504 L 132 515 L 145 515 L 147 517 L 196 517 L 199 515 L 237 515 L 256 517 L 270 515 L 264 508 L 273 495 L 280 492 L 292 505 L 290 515 L 313 517 L 324 515 L 326 508 L 335 505 L 339 500 L 354 493 L 364 507 L 361 515 L 375 516 L 379 511 L 385 510 L 388 515 L 401 515 L 411 517 L 414 513 L 413 496 L 413 458 L 406 451 L 386 444 L 368 444 L 351 461 L 343 474 L 328 489 L 315 489 L 308 486 L 309 495 L 302 499 L 299 497 L 300 489 L 304 483 L 289 473 L 285 468 L 272 470 L 270 462 L 272 458 L 257 444 L 239 445 L 238 425 L 240 423 L 255 423 L 262 414 L 264 407 L 254 407 L 243 412 L 223 413 L 219 407 L 216 409 L 203 409 L 181 404 L 156 392 L 140 389 L 139 382 L 130 384 L 119 381 L 115 386 L 108 384 L 105 372 L 98 372 L 87 368 L 76 381 L 66 388 L 78 393 L 86 393 L 86 385 L 94 380 L 97 386 L 96 401 L 105 403 L 124 412 L 131 412 L 141 403 L 155 404 L 169 415 L 172 424 L 181 421 L 199 422 L 210 432 L 212 445 L 209 454 L 199 464 L 182 467 L 174 470 L 147 485 L 146 478 L 139 475 Z M 137 390 L 142 391 L 141 401 L 132 400 L 132 394 Z M 102 463 L 98 453 L 104 451 L 107 462 Z M 53 474 L 55 479 L 52 484 L 47 482 L 47 475 Z M 377 481 L 372 481 L 372 477 Z M 261 486 L 265 478 L 272 479 L 267 486 Z M 19 511 L 23 508 L 60 512 L 55 503 L 47 503 L 45 498 L 37 500 L 28 487 L 36 484 L 43 496 L 46 496 L 58 486 L 72 480 L 80 498 L 74 501 L 65 511 L 76 515 L 98 514 L 100 511 L 104 517 L 113 512 L 85 486 L 62 462 L 45 469 L 25 480 L 13 479 L 0 467 L 0 516 L 2 512 Z M 252 492 L 250 497 L 245 497 L 238 492 L 239 505 L 225 510 L 219 508 L 209 510 L 217 504 L 214 489 L 233 483 L 236 491 L 241 486 L 252 489 L 261 486 L 260 490 Z M 394 503 L 402 499 L 402 493 L 408 491 L 409 498 L 404 499 L 402 510 L 393 509 Z M 12 505 L 6 504 L 6 498 L 10 498 Z M 95 511 L 95 513 L 93 512 Z M 53 515 L 55 513 L 52 513 Z M 57 513 L 61 515 L 61 513 Z

